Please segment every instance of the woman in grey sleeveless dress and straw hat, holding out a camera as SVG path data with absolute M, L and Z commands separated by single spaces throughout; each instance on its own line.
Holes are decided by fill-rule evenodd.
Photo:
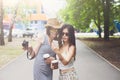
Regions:
M 53 71 L 50 68 L 51 61 L 56 58 L 55 52 L 51 49 L 51 45 L 57 36 L 57 30 L 60 28 L 60 23 L 56 18 L 48 19 L 46 24 L 46 34 L 39 37 L 36 47 L 28 47 L 27 51 L 31 58 L 35 58 L 34 62 L 34 80 L 53 80 Z M 41 33 L 42 34 L 42 33 Z M 50 57 L 46 60 L 44 54 L 49 54 Z

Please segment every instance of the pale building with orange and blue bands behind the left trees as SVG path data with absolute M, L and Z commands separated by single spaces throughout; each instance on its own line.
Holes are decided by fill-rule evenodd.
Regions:
M 35 27 L 37 29 L 44 29 L 44 24 L 46 24 L 47 17 L 44 13 L 42 2 L 40 0 L 4 0 L 4 8 L 7 9 L 7 14 L 4 15 L 4 21 L 11 23 L 13 18 L 13 13 L 11 14 L 11 9 L 18 7 L 18 13 L 23 13 L 24 17 L 21 17 L 17 13 L 16 20 L 23 21 L 26 20 L 26 27 Z M 17 23 L 15 23 L 17 25 Z M 21 27 L 21 26 L 20 26 Z

